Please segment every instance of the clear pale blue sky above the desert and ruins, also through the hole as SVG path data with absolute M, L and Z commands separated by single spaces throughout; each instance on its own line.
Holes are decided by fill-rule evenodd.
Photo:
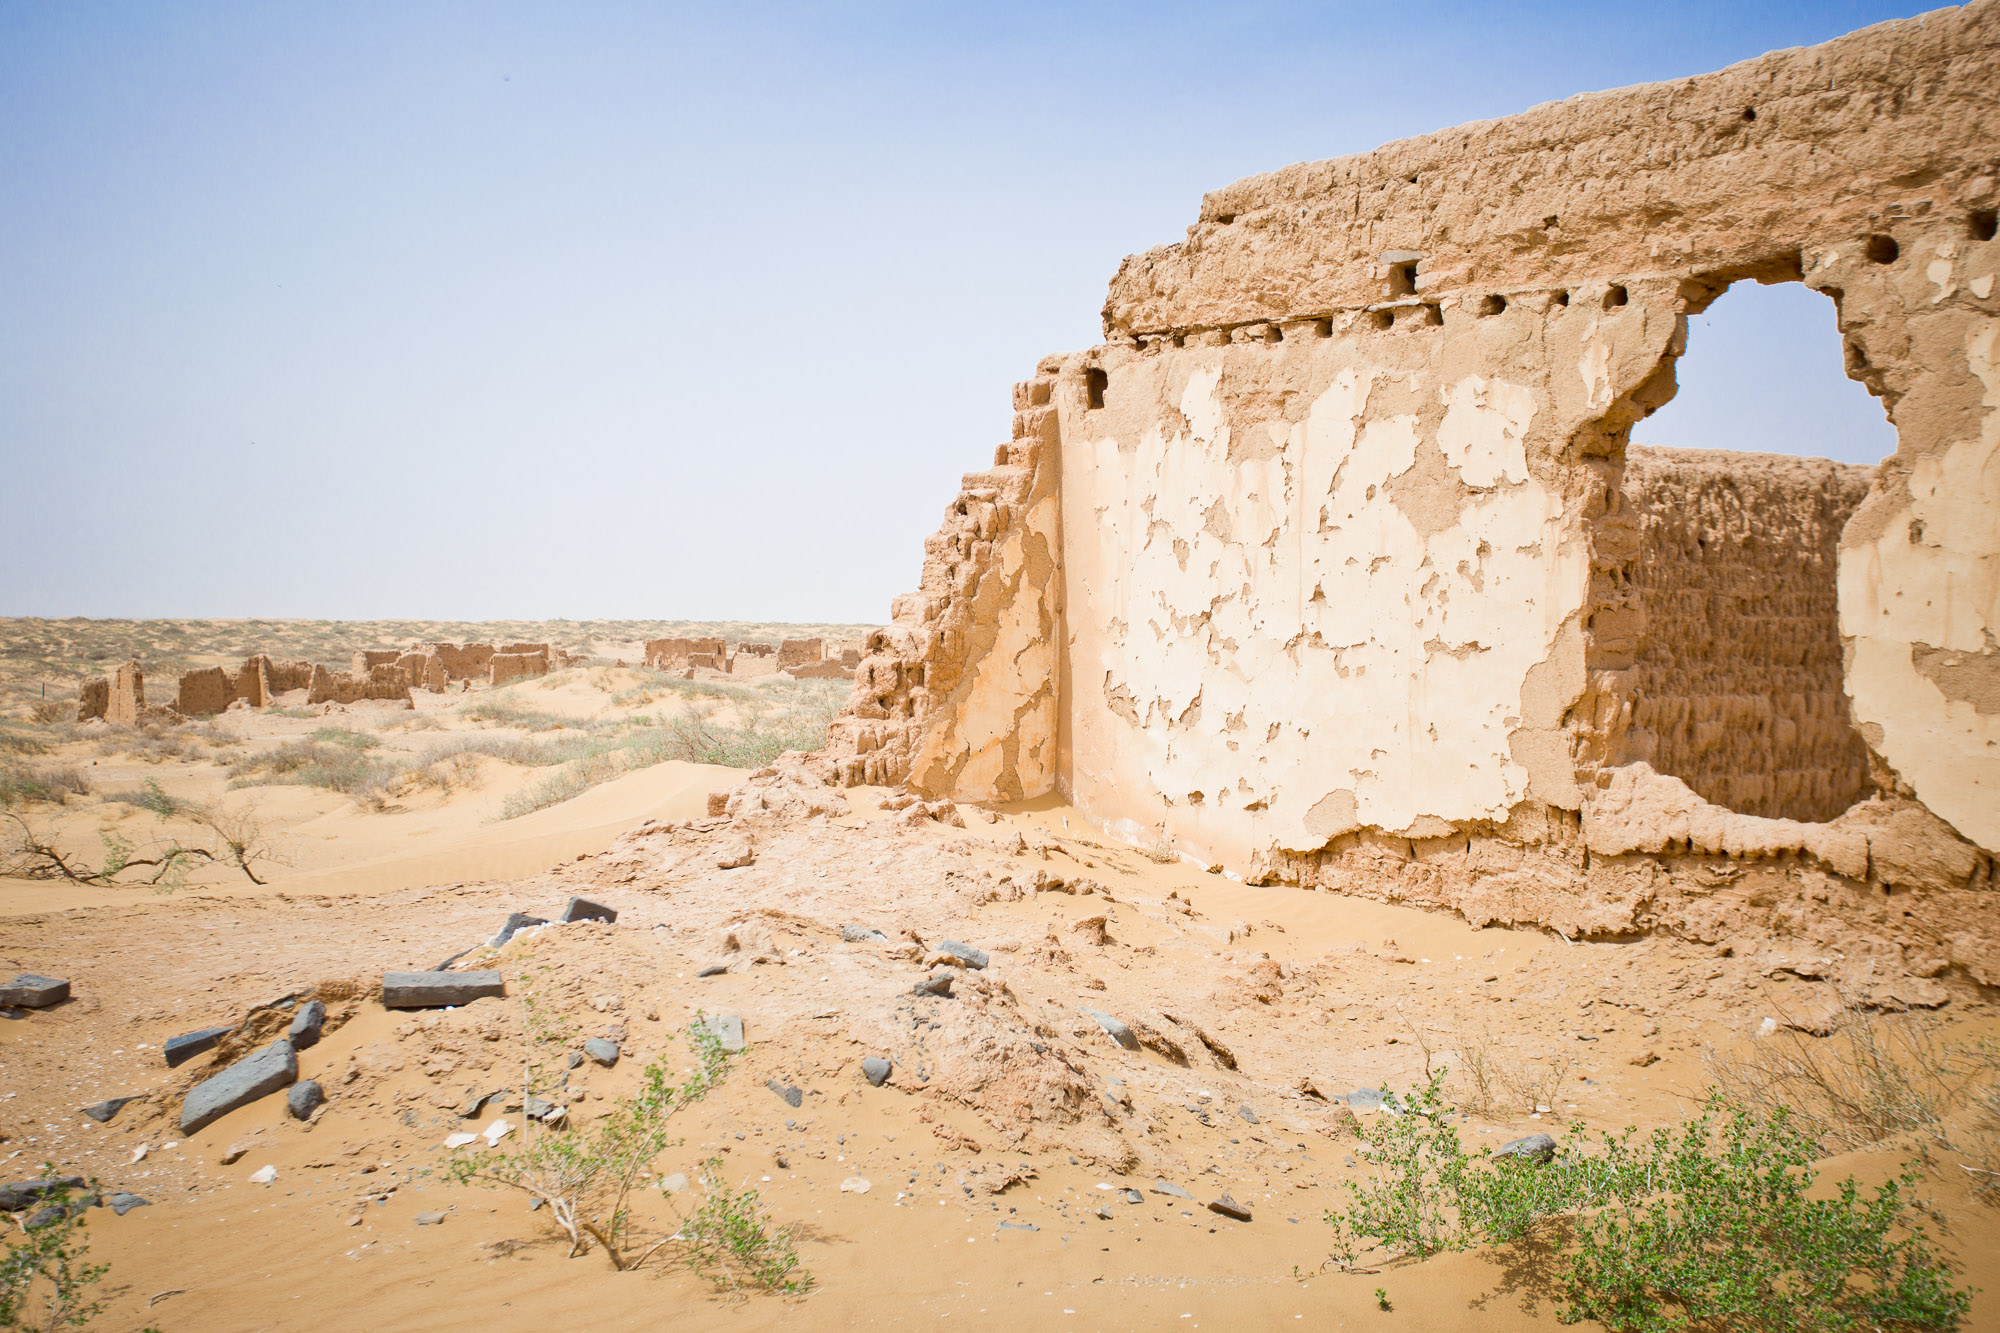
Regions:
M 0 614 L 878 620 L 1204 190 L 1922 8 L 0 0 Z

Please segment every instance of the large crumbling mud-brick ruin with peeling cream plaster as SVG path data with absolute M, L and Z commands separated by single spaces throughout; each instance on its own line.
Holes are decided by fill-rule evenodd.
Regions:
M 2000 985 L 1996 86 L 1980 0 L 1216 190 L 1014 388 L 828 781 Z M 1628 446 L 1740 280 L 1832 298 L 1880 466 Z

